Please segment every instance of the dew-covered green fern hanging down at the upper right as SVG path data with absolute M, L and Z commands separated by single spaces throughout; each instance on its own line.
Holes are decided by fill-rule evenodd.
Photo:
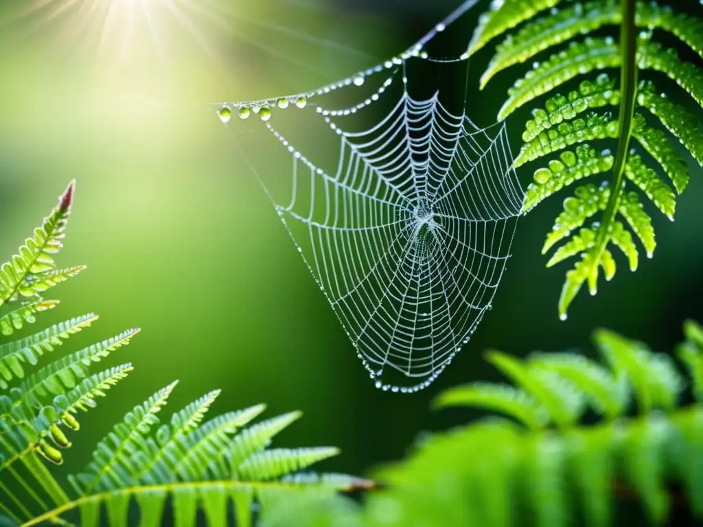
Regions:
M 620 27 L 619 44 L 613 37 L 600 36 L 601 30 L 611 26 Z M 512 65 L 534 60 L 542 53 L 546 58 L 534 62 L 532 70 L 509 90 L 499 112 L 501 119 L 572 79 L 596 70 L 621 70 L 619 86 L 609 72 L 604 72 L 595 79 L 583 80 L 566 95 L 551 96 L 543 108 L 536 108 L 515 160 L 520 167 L 552 157 L 546 167 L 534 172 L 534 183 L 529 185 L 524 202 L 525 213 L 575 181 L 612 174 L 611 181 L 603 181 L 600 186 L 576 187 L 574 197 L 565 200 L 564 212 L 543 247 L 546 253 L 566 240 L 548 266 L 572 256 L 581 257 L 567 273 L 562 288 L 559 314 L 563 319 L 584 282 L 595 294 L 600 268 L 606 280 L 614 276 L 616 265 L 610 248 L 617 247 L 617 252 L 624 253 L 632 271 L 639 260 L 633 235 L 647 256 L 652 256 L 656 245 L 652 219 L 634 188 L 673 220 L 676 193 L 682 193 L 689 181 L 686 161 L 673 140 L 703 165 L 703 131 L 699 118 L 687 108 L 703 105 L 703 70 L 681 60 L 673 48 L 652 41 L 653 34 L 667 32 L 703 57 L 703 20 L 650 1 L 496 0 L 482 15 L 468 53 L 475 53 L 494 37 L 515 28 L 516 32 L 503 37 L 496 47 L 482 77 L 482 87 Z M 639 34 L 638 28 L 642 28 Z M 598 36 L 588 36 L 595 31 L 599 31 Z M 583 34 L 586 37 L 581 37 Z M 640 72 L 669 77 L 692 100 L 685 105 L 674 103 L 651 80 L 638 81 Z M 597 146 L 609 141 L 614 142 L 614 154 L 607 145 Z M 652 168 L 657 166 L 671 186 Z M 600 219 L 584 227 L 599 215 Z

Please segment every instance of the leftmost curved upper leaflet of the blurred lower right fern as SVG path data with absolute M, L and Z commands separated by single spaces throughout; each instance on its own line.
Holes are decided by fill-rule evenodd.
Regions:
M 507 414 L 532 430 L 546 427 L 549 413 L 522 389 L 503 384 L 477 382 L 445 390 L 433 403 L 435 408 L 472 406 Z

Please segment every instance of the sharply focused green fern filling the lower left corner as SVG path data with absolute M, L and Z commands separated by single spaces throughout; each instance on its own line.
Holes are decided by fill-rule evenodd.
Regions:
M 59 483 L 46 464 L 63 462 L 63 450 L 71 446 L 68 436 L 80 426 L 77 415 L 95 408 L 98 398 L 133 369 L 127 363 L 91 375 L 90 367 L 138 332 L 93 344 L 28 377 L 25 370 L 98 317 L 82 315 L 8 340 L 34 323 L 37 314 L 58 305 L 40 293 L 84 269 L 58 270 L 53 260 L 73 193 L 72 183 L 32 238 L 0 268 L 0 308 L 10 308 L 0 312 L 0 520 L 70 524 L 79 511 L 80 524 L 94 526 L 104 505 L 112 526 L 127 525 L 130 506 L 139 509 L 142 526 L 160 525 L 165 509 L 172 509 L 176 526 L 195 525 L 199 509 L 209 525 L 224 526 L 233 502 L 240 526 L 252 523 L 254 503 L 262 505 L 257 514 L 262 523 L 292 525 L 281 516 L 281 507 L 302 507 L 337 490 L 370 485 L 343 474 L 301 472 L 336 455 L 336 448 L 269 448 L 300 412 L 251 424 L 265 408 L 256 405 L 205 421 L 220 393 L 212 391 L 161 424 L 158 414 L 176 382 L 127 412 L 98 443 L 86 468 L 70 477 L 72 493 Z

